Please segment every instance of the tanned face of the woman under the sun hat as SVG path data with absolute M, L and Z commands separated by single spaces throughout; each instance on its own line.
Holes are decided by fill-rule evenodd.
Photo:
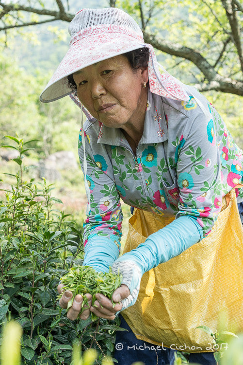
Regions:
M 73 78 L 81 103 L 105 126 L 126 129 L 144 122 L 147 68 L 133 70 L 128 59 L 118 55 L 85 67 Z

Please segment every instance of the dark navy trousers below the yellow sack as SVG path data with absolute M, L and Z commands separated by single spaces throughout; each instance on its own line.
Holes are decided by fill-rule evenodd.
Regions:
M 114 358 L 118 365 L 131 365 L 141 361 L 145 365 L 173 365 L 175 350 L 167 347 L 152 345 L 146 341 L 138 340 L 127 322 L 120 315 L 121 328 L 127 331 L 117 331 L 115 339 Z M 216 365 L 212 352 L 191 353 L 189 363 L 202 365 Z

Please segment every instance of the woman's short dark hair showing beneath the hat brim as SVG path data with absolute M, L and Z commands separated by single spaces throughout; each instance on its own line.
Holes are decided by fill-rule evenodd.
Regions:
M 148 66 L 149 49 L 146 47 L 138 48 L 137 50 L 123 53 L 122 55 L 127 57 L 133 70 Z M 69 88 L 71 88 L 73 92 L 77 91 L 72 73 L 67 76 L 67 81 Z

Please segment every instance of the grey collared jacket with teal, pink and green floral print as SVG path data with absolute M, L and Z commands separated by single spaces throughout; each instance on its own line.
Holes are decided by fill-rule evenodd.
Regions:
M 210 111 L 211 119 L 193 96 L 189 102 L 181 102 L 148 91 L 144 132 L 136 155 L 121 129 L 107 128 L 95 118 L 85 122 L 91 194 L 91 210 L 84 222 L 85 244 L 99 236 L 119 246 L 120 199 L 161 215 L 190 215 L 201 225 L 204 236 L 210 233 L 223 196 L 242 181 L 243 157 L 214 107 L 194 88 L 193 93 Z M 83 169 L 81 133 L 79 156 Z

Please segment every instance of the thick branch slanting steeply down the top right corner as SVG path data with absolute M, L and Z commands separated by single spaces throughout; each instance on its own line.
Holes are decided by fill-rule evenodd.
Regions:
M 226 15 L 230 24 L 232 37 L 234 39 L 234 44 L 237 49 L 240 63 L 241 63 L 241 69 L 243 73 L 243 54 L 242 54 L 242 46 L 241 46 L 241 37 L 240 37 L 240 29 L 238 25 L 238 20 L 235 14 L 235 8 L 233 7 L 233 0 L 221 0 L 222 4 L 225 8 Z

